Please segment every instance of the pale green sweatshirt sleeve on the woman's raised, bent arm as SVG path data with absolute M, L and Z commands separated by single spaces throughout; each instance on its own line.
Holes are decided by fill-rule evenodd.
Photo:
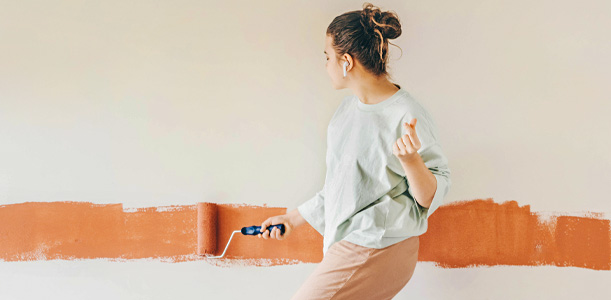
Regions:
M 421 206 L 420 203 L 416 201 L 420 212 L 428 219 L 429 216 L 443 204 L 443 199 L 450 190 L 450 186 L 452 185 L 450 179 L 451 172 L 448 167 L 448 159 L 444 155 L 441 144 L 439 143 L 437 127 L 428 113 L 424 112 L 418 115 L 406 114 L 401 124 L 402 134 L 407 133 L 407 130 L 403 127 L 403 123 L 410 122 L 413 118 L 418 119 L 416 122 L 416 134 L 421 144 L 418 153 L 437 181 L 435 195 L 428 208 Z M 410 195 L 413 195 L 411 186 L 408 187 L 408 191 Z M 413 196 L 412 198 L 415 199 Z

